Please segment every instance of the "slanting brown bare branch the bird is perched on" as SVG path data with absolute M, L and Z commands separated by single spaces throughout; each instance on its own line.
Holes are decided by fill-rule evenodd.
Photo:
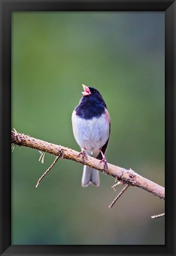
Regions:
M 32 149 L 37 149 L 38 151 L 43 151 L 56 155 L 59 158 L 69 159 L 74 162 L 82 163 L 82 156 L 79 156 L 79 152 L 73 149 L 65 148 L 64 146 L 58 146 L 52 143 L 45 142 L 43 140 L 35 139 L 34 137 L 18 133 L 16 130 L 11 131 L 11 143 L 12 145 L 27 146 Z M 103 164 L 100 161 L 91 156 L 84 158 L 84 165 L 88 167 L 97 169 L 99 171 L 104 171 Z M 115 177 L 116 180 L 122 181 L 123 184 L 129 184 L 142 188 L 149 193 L 158 196 L 160 199 L 165 199 L 165 188 L 161 187 L 157 183 L 150 181 L 141 175 L 134 172 L 132 169 L 125 169 L 112 164 L 108 164 L 108 169 L 106 173 Z

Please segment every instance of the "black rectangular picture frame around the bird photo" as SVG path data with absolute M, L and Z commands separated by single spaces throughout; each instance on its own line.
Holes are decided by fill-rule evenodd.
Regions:
M 175 81 L 176 2 L 16 1 L 1 7 L 1 255 L 176 255 Z M 165 11 L 165 245 L 11 245 L 11 13 L 13 11 Z M 154 220 L 157 221 L 157 220 Z

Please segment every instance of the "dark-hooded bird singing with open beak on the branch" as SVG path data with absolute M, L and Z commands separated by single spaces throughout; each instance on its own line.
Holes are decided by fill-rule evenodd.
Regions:
M 109 143 L 110 116 L 97 89 L 83 85 L 82 94 L 71 116 L 74 139 L 82 150 L 79 156 L 82 155 L 83 163 L 87 155 L 99 159 L 105 171 L 108 169 L 105 153 Z M 99 171 L 84 165 L 82 187 L 89 184 L 100 185 Z

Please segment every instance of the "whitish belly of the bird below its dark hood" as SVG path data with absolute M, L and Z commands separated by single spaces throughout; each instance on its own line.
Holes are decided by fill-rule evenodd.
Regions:
M 86 149 L 88 155 L 94 157 L 99 155 L 99 150 L 109 137 L 109 122 L 105 119 L 105 115 L 98 119 L 93 117 L 93 119 L 84 120 L 76 116 L 73 111 L 71 120 L 74 138 L 80 148 Z

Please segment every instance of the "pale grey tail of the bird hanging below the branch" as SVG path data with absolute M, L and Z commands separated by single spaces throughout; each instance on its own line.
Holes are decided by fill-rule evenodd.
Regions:
M 82 187 L 87 187 L 89 183 L 92 183 L 96 187 L 100 185 L 99 171 L 84 165 L 83 176 L 82 176 Z

